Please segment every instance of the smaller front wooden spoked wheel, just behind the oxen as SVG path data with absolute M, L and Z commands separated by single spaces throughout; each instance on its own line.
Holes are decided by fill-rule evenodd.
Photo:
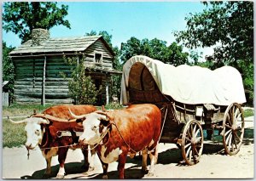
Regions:
M 190 120 L 183 127 L 181 150 L 188 165 L 199 162 L 203 150 L 203 131 L 199 122 Z

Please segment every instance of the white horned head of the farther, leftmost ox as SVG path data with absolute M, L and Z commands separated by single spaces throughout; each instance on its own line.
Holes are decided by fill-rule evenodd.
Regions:
M 26 123 L 26 148 L 29 150 L 34 149 L 38 144 L 42 143 L 45 129 L 41 126 L 49 124 L 47 119 L 42 117 L 28 117 L 24 120 L 15 122 L 9 119 L 10 122 L 15 124 Z

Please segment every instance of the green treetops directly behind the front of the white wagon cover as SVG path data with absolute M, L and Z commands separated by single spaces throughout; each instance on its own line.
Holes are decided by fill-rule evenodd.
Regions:
M 172 42 L 170 46 L 166 46 L 165 41 L 157 38 L 152 40 L 145 38 L 140 41 L 136 37 L 131 37 L 130 40 L 121 44 L 121 62 L 125 64 L 128 59 L 135 55 L 145 55 L 172 65 L 187 64 L 189 57 L 188 53 L 183 53 L 183 47 L 177 45 L 177 42 Z

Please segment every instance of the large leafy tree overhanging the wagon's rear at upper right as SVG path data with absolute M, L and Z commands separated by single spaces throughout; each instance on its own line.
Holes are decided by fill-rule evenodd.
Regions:
M 212 69 L 232 65 L 241 72 L 243 83 L 253 100 L 253 2 L 204 2 L 201 13 L 185 18 L 185 31 L 176 31 L 177 42 L 187 48 L 214 48 L 207 56 Z M 213 63 L 213 64 L 212 64 Z

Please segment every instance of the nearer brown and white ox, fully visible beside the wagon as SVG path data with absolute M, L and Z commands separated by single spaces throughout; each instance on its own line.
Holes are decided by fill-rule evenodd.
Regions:
M 147 171 L 150 151 L 148 175 L 153 175 L 161 126 L 161 112 L 157 106 L 130 105 L 123 110 L 98 110 L 84 116 L 73 116 L 77 119 L 85 117 L 84 133 L 79 137 L 80 144 L 98 144 L 96 153 L 102 161 L 102 178 L 108 178 L 108 163 L 113 161 L 119 161 L 119 178 L 125 178 L 126 156 L 133 157 L 141 150 L 142 171 Z

